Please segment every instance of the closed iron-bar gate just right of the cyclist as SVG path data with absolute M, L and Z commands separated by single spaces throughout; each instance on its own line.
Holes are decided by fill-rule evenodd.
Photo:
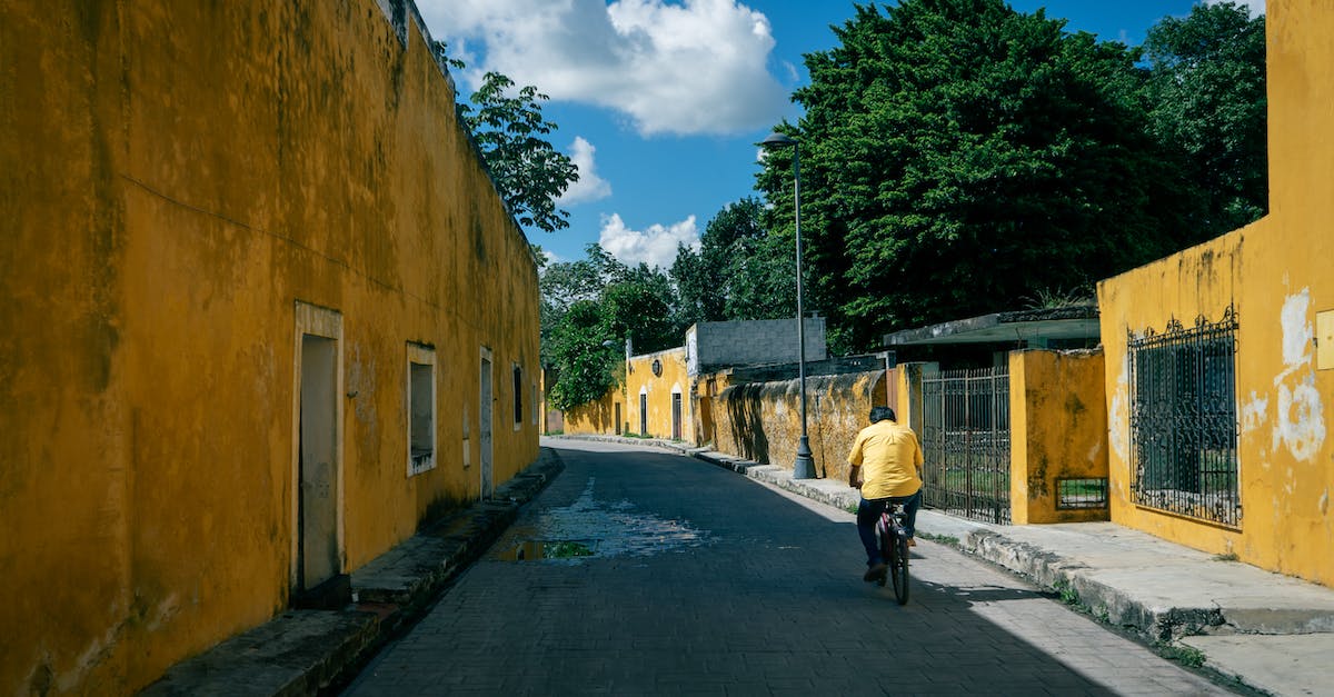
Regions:
M 1009 523 L 1009 367 L 923 375 L 922 450 L 923 505 Z

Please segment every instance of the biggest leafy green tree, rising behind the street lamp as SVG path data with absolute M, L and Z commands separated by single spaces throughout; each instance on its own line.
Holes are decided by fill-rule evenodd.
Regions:
M 834 31 L 780 128 L 802 143 L 808 304 L 835 350 L 1090 284 L 1194 227 L 1125 45 L 1003 0 L 858 5 Z M 791 176 L 787 150 L 758 179 L 788 230 Z

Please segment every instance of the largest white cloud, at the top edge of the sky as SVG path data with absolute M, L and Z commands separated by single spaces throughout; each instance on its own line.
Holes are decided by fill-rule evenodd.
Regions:
M 436 39 L 556 100 L 606 107 L 642 135 L 734 134 L 776 122 L 768 19 L 738 0 L 418 0 Z

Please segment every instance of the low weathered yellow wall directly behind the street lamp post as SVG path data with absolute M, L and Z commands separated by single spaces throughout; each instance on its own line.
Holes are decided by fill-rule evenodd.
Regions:
M 883 370 L 806 378 L 806 429 L 818 477 L 847 479 L 852 441 L 870 423 L 871 407 L 884 406 L 884 379 Z M 715 447 L 791 469 L 802 435 L 800 405 L 795 379 L 730 386 L 714 401 Z

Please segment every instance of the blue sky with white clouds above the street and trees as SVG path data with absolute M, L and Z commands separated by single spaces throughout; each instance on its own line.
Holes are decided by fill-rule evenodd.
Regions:
M 800 112 L 803 53 L 835 44 L 851 0 L 416 0 L 468 68 L 471 95 L 495 69 L 551 95 L 552 144 L 580 167 L 570 227 L 527 231 L 559 260 L 600 243 L 622 262 L 670 266 L 726 204 L 754 195 L 755 143 Z M 864 4 L 864 3 L 863 3 Z M 1010 0 L 1130 45 L 1195 0 Z M 1263 12 L 1263 0 L 1243 4 Z

